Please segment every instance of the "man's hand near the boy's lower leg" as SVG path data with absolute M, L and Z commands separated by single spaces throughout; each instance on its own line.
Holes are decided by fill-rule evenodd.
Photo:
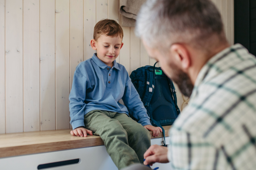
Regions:
M 152 166 L 154 163 L 168 163 L 169 160 L 167 158 L 168 148 L 159 146 L 157 144 L 152 145 L 148 148 L 148 150 L 144 153 L 144 164 Z

